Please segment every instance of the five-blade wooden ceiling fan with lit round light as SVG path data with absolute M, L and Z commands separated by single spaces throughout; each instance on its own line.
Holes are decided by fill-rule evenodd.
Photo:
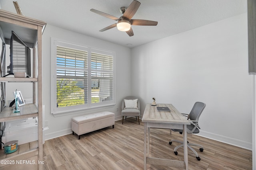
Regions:
M 132 3 L 126 8 L 126 7 L 121 7 L 120 12 L 123 14 L 120 18 L 117 18 L 115 16 L 106 14 L 104 12 L 90 9 L 91 12 L 94 12 L 96 14 L 99 14 L 101 16 L 104 16 L 106 18 L 110 18 L 112 20 L 116 20 L 117 23 L 114 23 L 112 25 L 109 25 L 108 27 L 105 27 L 100 30 L 100 32 L 106 31 L 108 29 L 117 27 L 118 30 L 120 31 L 125 31 L 130 37 L 134 35 L 132 31 L 131 25 L 151 25 L 155 26 L 157 25 L 157 21 L 150 21 L 150 20 L 138 20 L 138 19 L 132 19 L 134 14 L 137 12 L 138 8 L 140 6 L 140 2 L 134 0 Z

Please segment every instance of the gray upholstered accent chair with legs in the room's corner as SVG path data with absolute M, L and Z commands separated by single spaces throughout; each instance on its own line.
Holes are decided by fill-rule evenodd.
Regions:
M 121 112 L 122 116 L 123 116 L 122 124 L 124 123 L 124 116 L 125 116 L 125 119 L 126 119 L 126 116 L 135 116 L 136 120 L 137 120 L 137 116 L 138 116 L 138 121 L 139 121 L 139 124 L 140 124 L 140 119 L 139 119 L 139 116 L 140 116 L 140 100 L 138 99 L 136 108 L 133 108 L 132 104 L 129 101 L 127 101 L 127 100 L 136 100 L 136 99 L 138 99 L 138 98 L 135 97 L 135 96 L 127 96 L 123 99 L 123 101 L 122 101 L 122 112 Z M 126 100 L 126 102 L 124 100 Z M 130 106 L 128 106 L 128 104 Z

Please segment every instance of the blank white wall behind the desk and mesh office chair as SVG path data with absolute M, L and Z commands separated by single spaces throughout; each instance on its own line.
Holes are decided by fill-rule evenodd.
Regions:
M 252 149 L 247 14 L 132 49 L 132 94 L 189 113 L 206 103 L 201 135 Z

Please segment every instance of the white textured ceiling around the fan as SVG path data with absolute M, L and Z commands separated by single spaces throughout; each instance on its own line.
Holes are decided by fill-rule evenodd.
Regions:
M 158 25 L 132 25 L 134 36 L 129 37 L 116 27 L 100 32 L 116 21 L 90 9 L 119 18 L 122 16 L 119 8 L 129 6 L 132 0 L 17 0 L 25 16 L 126 47 L 136 47 L 247 12 L 247 0 L 138 1 L 141 5 L 133 19 L 158 21 Z M 16 13 L 11 0 L 0 0 L 0 5 L 3 10 Z

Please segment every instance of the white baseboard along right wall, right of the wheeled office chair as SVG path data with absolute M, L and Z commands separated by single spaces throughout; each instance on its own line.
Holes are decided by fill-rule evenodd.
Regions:
M 236 146 L 236 147 L 252 150 L 252 143 L 241 141 L 241 140 L 238 140 L 238 139 L 233 139 L 233 138 L 230 138 L 230 137 L 217 135 L 217 134 L 214 134 L 214 133 L 209 133 L 209 132 L 201 131 L 201 130 L 200 130 L 200 133 L 195 134 L 195 135 L 206 137 L 208 139 L 212 139 L 212 140 L 219 141 L 219 142 L 222 142 L 222 143 L 226 143 L 226 144 L 229 144 L 229 145 L 233 145 L 233 146 Z

